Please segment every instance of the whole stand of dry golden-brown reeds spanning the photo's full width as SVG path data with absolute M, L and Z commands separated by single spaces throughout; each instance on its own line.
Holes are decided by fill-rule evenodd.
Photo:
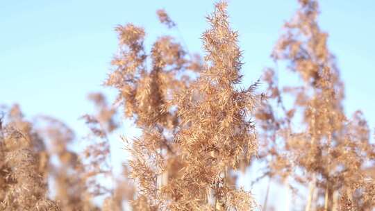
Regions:
M 0 116 L 0 210 L 256 210 L 236 180 L 256 158 L 267 163 L 263 177 L 306 199 L 306 211 L 374 210 L 369 126 L 363 112 L 344 114 L 317 0 L 299 4 L 272 52 L 299 83 L 283 85 L 278 71 L 265 69 L 267 100 L 255 93 L 260 81 L 240 88 L 242 51 L 224 1 L 207 17 L 203 60 L 168 35 L 147 52 L 143 28 L 117 26 L 119 50 L 105 82 L 117 99 L 89 95 L 95 110 L 81 117 L 90 129 L 84 143 L 58 119 L 26 121 L 18 105 Z M 176 28 L 165 10 L 156 13 Z M 141 135 L 124 138 L 131 156 L 116 177 L 110 134 L 119 105 Z

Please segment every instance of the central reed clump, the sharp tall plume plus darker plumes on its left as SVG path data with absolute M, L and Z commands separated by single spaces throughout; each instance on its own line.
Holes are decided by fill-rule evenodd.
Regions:
M 217 3 L 208 17 L 212 29 L 203 34 L 204 67 L 186 58 L 171 37 L 160 37 L 147 56 L 142 28 L 117 28 L 121 51 L 107 85 L 119 90 L 126 116 L 142 128 L 130 149 L 131 177 L 139 185 L 136 209 L 215 209 L 210 198 L 228 209 L 249 210 L 253 205 L 248 193 L 237 192 L 226 181 L 242 158 L 253 155 L 256 137 L 247 119 L 255 96 L 251 90 L 235 89 L 242 78 L 241 53 L 225 8 Z M 175 25 L 164 10 L 158 16 L 160 22 Z M 197 81 L 190 83 L 185 74 L 189 69 L 202 69 Z

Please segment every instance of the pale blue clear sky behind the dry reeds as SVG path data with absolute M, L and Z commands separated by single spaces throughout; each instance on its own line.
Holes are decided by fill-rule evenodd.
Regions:
M 65 121 L 78 137 L 85 135 L 78 117 L 92 111 L 90 92 L 115 90 L 101 86 L 117 50 L 118 24 L 143 26 L 146 43 L 165 34 L 176 35 L 190 53 L 201 53 L 201 33 L 208 28 L 204 17 L 214 1 L 0 1 L 0 104 L 19 103 L 26 117 L 49 115 Z M 244 51 L 244 85 L 272 66 L 269 54 L 285 20 L 297 9 L 295 0 L 228 1 L 231 24 L 240 34 Z M 158 23 L 156 10 L 164 8 L 178 31 Z M 375 1 L 320 3 L 321 28 L 329 33 L 328 46 L 338 58 L 345 83 L 347 115 L 363 110 L 375 127 Z M 147 47 L 149 49 L 149 47 Z M 288 83 L 288 81 L 285 81 Z M 262 87 L 260 87 L 262 89 Z M 120 134 L 135 130 L 124 124 Z M 125 153 L 119 137 L 112 139 L 113 160 Z M 247 184 L 247 178 L 241 178 Z M 248 184 L 247 184 L 248 185 Z M 256 191 L 261 195 L 264 189 Z

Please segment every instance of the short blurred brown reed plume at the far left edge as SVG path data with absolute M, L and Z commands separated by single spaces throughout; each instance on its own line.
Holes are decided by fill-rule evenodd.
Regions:
M 18 105 L 1 119 L 1 210 L 60 210 L 47 198 L 44 144 Z

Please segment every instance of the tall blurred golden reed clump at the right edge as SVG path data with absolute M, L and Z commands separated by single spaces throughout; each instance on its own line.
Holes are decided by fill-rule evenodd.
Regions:
M 285 34 L 278 40 L 272 57 L 286 61 L 288 69 L 298 74 L 303 83 L 280 88 L 275 72 L 267 69 L 265 81 L 274 103 L 266 103 L 257 115 L 264 137 L 270 141 L 264 155 L 272 155 L 270 175 L 291 177 L 302 184 L 310 181 L 306 210 L 312 206 L 337 210 L 337 197 L 343 210 L 371 210 L 374 180 L 367 178 L 364 171 L 365 164 L 374 159 L 369 128 L 361 112 L 352 119 L 344 115 L 344 85 L 326 45 L 328 35 L 317 24 L 317 1 L 299 3 L 300 8 L 285 24 Z M 287 94 L 294 96 L 292 108 L 288 109 L 283 102 Z M 277 110 L 283 112 L 282 117 L 276 115 Z M 303 173 L 297 173 L 299 170 Z

